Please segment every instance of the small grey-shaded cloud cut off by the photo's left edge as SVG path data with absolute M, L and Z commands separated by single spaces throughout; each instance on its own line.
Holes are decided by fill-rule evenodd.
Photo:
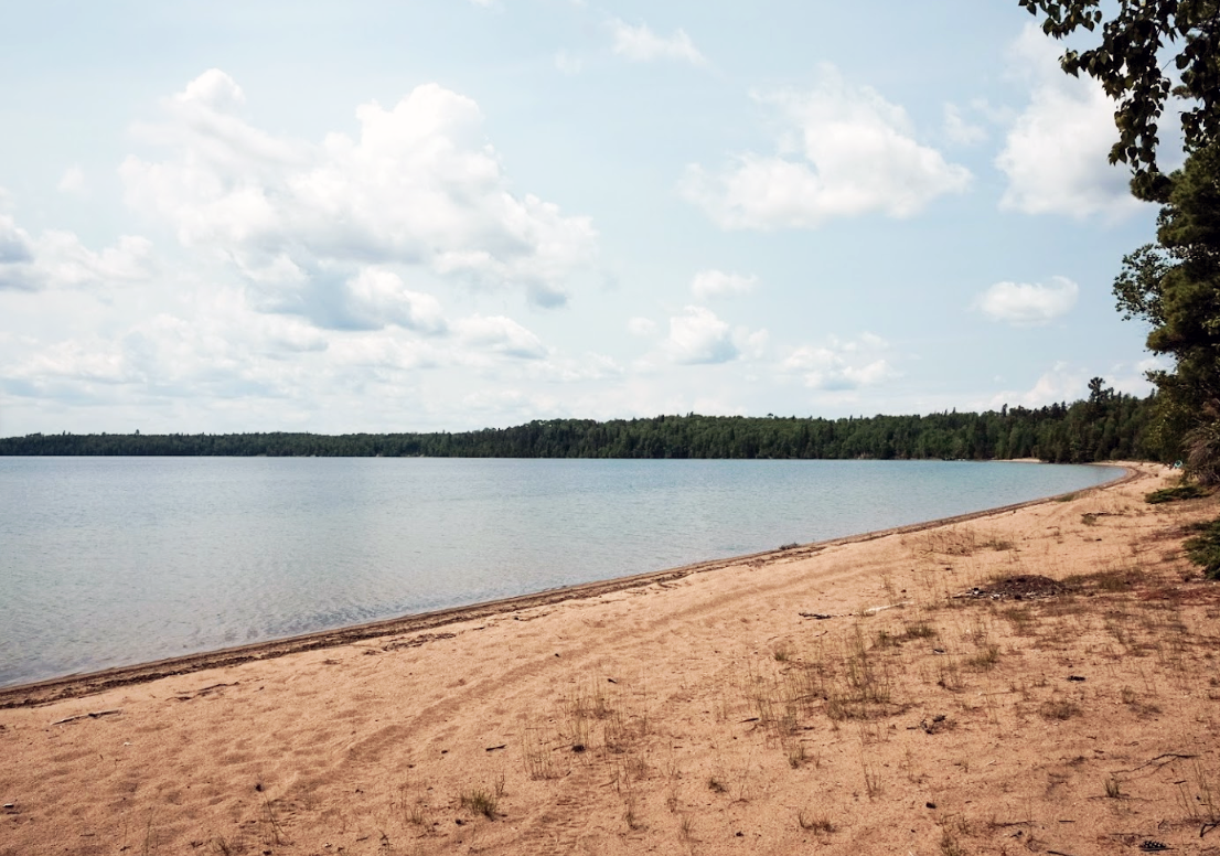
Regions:
M 71 232 L 32 237 L 12 217 L 0 215 L 0 290 L 40 291 L 144 279 L 152 265 L 146 238 L 123 235 L 94 252 Z

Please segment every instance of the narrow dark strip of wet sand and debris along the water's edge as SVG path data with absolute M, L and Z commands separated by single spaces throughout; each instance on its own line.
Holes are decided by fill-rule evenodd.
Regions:
M 1035 461 L 1016 458 L 1008 462 L 1024 463 Z M 675 568 L 648 571 L 638 574 L 614 577 L 605 580 L 594 580 L 590 583 L 580 583 L 555 589 L 544 589 L 542 591 L 515 595 L 512 597 L 500 597 L 489 601 L 468 604 L 465 606 L 453 606 L 443 610 L 432 610 L 428 612 L 399 616 L 394 618 L 383 618 L 329 630 L 316 630 L 312 633 L 285 637 L 283 639 L 249 643 L 245 645 L 235 645 L 212 651 L 201 651 L 198 654 L 133 663 L 131 666 L 116 666 L 95 672 L 73 673 L 44 680 L 0 687 L 0 710 L 46 705 L 63 699 L 94 695 L 111 689 L 144 684 L 168 677 L 238 666 L 254 661 L 271 660 L 305 651 L 350 645 L 353 643 L 378 639 L 382 637 L 434 630 L 450 624 L 503 616 L 539 606 L 550 606 L 570 600 L 598 597 L 627 589 L 672 583 L 692 574 L 719 571 L 752 562 L 770 563 L 778 558 L 805 558 L 828 547 L 860 544 L 891 535 L 905 535 L 925 532 L 927 529 L 954 526 L 969 521 L 1010 513 L 1020 508 L 1032 507 L 1046 502 L 1059 501 L 1064 496 L 1081 496 L 1094 491 L 1113 489 L 1133 479 L 1141 478 L 1142 476 L 1138 469 L 1121 462 L 1093 462 L 1085 466 L 1108 467 L 1118 469 L 1119 474 L 1114 479 L 1103 482 L 1102 484 L 1091 485 L 1080 490 L 1071 490 L 1064 494 L 1055 494 L 1041 499 L 1026 500 L 1024 502 L 1015 502 L 993 508 L 983 508 L 981 511 L 972 511 L 963 515 L 954 515 L 952 517 L 924 521 L 920 523 L 891 527 L 888 529 L 877 529 L 822 541 L 811 541 L 809 544 L 800 544 L 788 549 L 781 547 L 761 552 L 730 556 L 726 558 L 694 562 Z

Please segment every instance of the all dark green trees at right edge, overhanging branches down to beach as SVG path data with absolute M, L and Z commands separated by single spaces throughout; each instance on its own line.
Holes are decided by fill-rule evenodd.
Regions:
M 1017 1 L 1057 39 L 1100 27 L 1100 44 L 1066 50 L 1060 65 L 1114 99 L 1110 162 L 1131 167 L 1136 196 L 1163 205 L 1158 243 L 1124 259 L 1114 283 L 1125 317 L 1152 326 L 1148 349 L 1174 361 L 1148 376 L 1158 390 L 1153 443 L 1220 483 L 1220 0 Z M 1157 150 L 1171 96 L 1188 156 L 1165 176 Z

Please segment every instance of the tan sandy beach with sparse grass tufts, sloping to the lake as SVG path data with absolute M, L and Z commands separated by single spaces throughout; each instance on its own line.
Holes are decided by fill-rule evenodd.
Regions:
M 1220 502 L 1147 505 L 1172 476 L 1127 466 L 0 691 L 0 854 L 1220 854 L 1220 587 L 1181 551 Z

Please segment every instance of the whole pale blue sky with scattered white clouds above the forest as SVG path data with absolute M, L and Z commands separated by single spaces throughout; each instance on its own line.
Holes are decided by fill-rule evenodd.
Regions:
M 0 5 L 2 437 L 1150 389 L 1016 0 Z

